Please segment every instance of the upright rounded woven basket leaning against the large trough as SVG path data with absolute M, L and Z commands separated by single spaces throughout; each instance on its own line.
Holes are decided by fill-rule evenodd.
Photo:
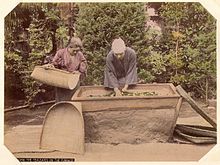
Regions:
M 61 101 L 46 113 L 40 149 L 84 154 L 84 136 L 81 103 Z

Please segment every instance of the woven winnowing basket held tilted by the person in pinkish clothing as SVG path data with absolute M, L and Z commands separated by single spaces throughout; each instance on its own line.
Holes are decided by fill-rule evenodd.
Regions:
M 56 68 L 45 69 L 43 66 L 35 66 L 31 77 L 47 85 L 72 90 L 78 84 L 80 74 L 73 74 Z

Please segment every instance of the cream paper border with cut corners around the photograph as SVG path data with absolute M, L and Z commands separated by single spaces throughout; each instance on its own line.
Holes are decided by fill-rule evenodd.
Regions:
M 10 1 L 5 1 L 4 3 L 1 4 L 0 6 L 0 11 L 1 11 L 1 16 L 0 16 L 0 93 L 1 93 L 1 98 L 4 98 L 4 17 L 14 8 L 16 7 L 19 3 L 21 2 L 29 2 L 29 3 L 34 3 L 34 2 L 200 2 L 203 7 L 205 7 L 216 19 L 217 19 L 217 55 L 216 55 L 216 61 L 217 61 L 217 123 L 219 123 L 219 118 L 220 118 L 220 113 L 218 112 L 218 109 L 220 108 L 220 105 L 218 103 L 218 98 L 219 98 L 219 89 L 218 87 L 220 86 L 220 82 L 218 81 L 219 77 L 219 69 L 218 66 L 220 66 L 220 61 L 219 61 L 219 43 L 220 43 L 220 1 L 218 0 L 182 0 L 182 1 L 175 1 L 175 0 L 139 0 L 139 1 L 80 1 L 80 0 L 75 0 L 75 1 L 69 1 L 69 0 L 54 0 L 54 1 L 49 1 L 49 0 L 35 0 L 35 1 L 28 1 L 28 0 L 10 0 Z M 4 99 L 1 99 L 0 102 L 0 164 L 8 164 L 8 165 L 14 165 L 14 164 L 45 164 L 45 163 L 38 163 L 38 162 L 30 162 L 30 163 L 21 163 L 19 162 L 14 155 L 7 149 L 7 147 L 4 146 Z M 220 147 L 219 147 L 219 131 L 220 127 L 217 127 L 217 144 L 203 157 L 199 162 L 190 162 L 191 164 L 194 163 L 199 163 L 199 164 L 218 164 L 220 162 Z M 46 162 L 47 164 L 51 164 Z M 79 162 L 73 162 L 73 163 L 79 163 Z M 93 164 L 93 162 L 89 162 L 89 164 Z M 116 162 L 99 162 L 103 164 L 115 164 Z M 118 164 L 119 162 L 117 162 Z M 119 164 L 155 164 L 156 162 L 120 162 Z M 165 162 L 169 164 L 188 164 L 189 162 Z M 59 164 L 59 163 L 56 163 Z M 63 163 L 60 163 L 63 164 Z M 69 163 L 68 163 L 69 164 Z M 82 164 L 82 162 L 80 162 Z M 85 162 L 85 164 L 87 164 Z M 164 162 L 157 162 L 157 164 L 164 164 Z

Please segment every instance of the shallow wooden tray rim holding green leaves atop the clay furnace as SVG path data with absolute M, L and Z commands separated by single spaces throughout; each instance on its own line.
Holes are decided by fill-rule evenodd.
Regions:
M 127 110 L 127 109 L 175 109 L 180 95 L 173 84 L 138 84 L 130 92 L 155 92 L 154 96 L 90 97 L 108 95 L 112 90 L 103 86 L 81 86 L 73 95 L 72 101 L 81 102 L 83 111 Z

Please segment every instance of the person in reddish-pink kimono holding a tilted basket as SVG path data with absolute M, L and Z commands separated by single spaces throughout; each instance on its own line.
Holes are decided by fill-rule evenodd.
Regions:
M 73 37 L 69 45 L 64 49 L 58 50 L 52 63 L 47 64 L 45 67 L 55 67 L 71 73 L 79 73 L 80 80 L 82 80 L 86 76 L 87 61 L 81 49 L 82 41 L 78 37 Z M 80 82 L 73 90 L 56 87 L 56 102 L 70 100 L 79 85 Z

